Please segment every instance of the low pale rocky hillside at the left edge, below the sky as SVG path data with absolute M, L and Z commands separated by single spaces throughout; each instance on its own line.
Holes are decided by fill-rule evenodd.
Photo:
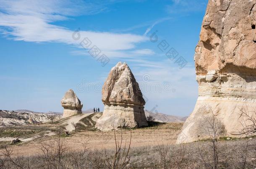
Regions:
M 36 124 L 40 122 L 50 121 L 50 116 L 55 116 L 55 119 L 61 118 L 60 114 L 46 114 L 26 110 L 0 110 L 0 126 Z

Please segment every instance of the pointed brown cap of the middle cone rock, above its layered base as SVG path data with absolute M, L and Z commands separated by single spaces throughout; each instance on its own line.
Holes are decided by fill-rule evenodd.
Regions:
M 111 69 L 102 87 L 102 101 L 104 103 L 145 105 L 138 83 L 126 63 L 118 62 Z

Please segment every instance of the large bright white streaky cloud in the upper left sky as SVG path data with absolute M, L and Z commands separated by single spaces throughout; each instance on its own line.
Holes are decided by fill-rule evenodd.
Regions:
M 104 10 L 103 6 L 71 0 L 0 0 L 0 26 L 8 30 L 13 40 L 29 42 L 59 42 L 79 45 L 81 40 L 73 40 L 73 31 L 54 25 L 53 22 L 67 20 L 69 16 L 91 14 Z M 95 7 L 95 8 L 94 8 Z M 100 50 L 133 49 L 136 43 L 146 38 L 135 34 L 94 32 L 81 30 L 81 38 L 89 38 Z

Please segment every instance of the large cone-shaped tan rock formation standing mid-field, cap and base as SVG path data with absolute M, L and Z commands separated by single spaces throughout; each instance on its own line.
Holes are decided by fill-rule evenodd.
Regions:
M 147 126 L 145 101 L 126 63 L 113 67 L 102 87 L 103 115 L 96 128 L 102 131 Z

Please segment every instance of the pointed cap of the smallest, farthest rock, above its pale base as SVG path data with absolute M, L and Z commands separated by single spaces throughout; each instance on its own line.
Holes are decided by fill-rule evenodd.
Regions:
M 74 93 L 72 89 L 69 89 L 61 100 L 61 106 L 63 106 L 64 108 L 81 109 L 83 107 L 83 104 L 76 96 L 76 93 Z

